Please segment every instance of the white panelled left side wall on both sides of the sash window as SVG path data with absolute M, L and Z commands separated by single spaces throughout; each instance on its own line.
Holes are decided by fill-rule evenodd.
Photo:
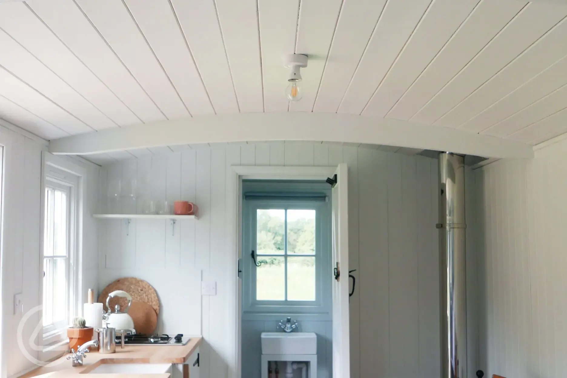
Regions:
M 2 122 L 3 123 L 3 122 Z M 13 130 L 12 130 L 13 129 Z M 1 126 L 0 140 L 6 143 L 5 181 L 3 199 L 3 256 L 2 256 L 2 360 L 6 376 L 18 375 L 34 367 L 32 362 L 14 347 L 18 337 L 22 337 L 29 355 L 38 358 L 34 330 L 40 321 L 39 313 L 34 312 L 23 324 L 23 334 L 18 335 L 18 325 L 23 315 L 14 315 L 14 294 L 22 294 L 24 313 L 33 311 L 41 304 L 40 298 L 40 229 L 41 216 L 41 153 L 46 149 L 39 138 L 29 138 L 19 133 L 17 128 Z M 81 158 L 64 158 L 80 165 L 87 172 L 83 202 L 83 260 L 82 287 L 86 295 L 88 287 L 98 286 L 98 235 L 96 221 L 92 219 L 92 209 L 98 202 L 98 167 Z

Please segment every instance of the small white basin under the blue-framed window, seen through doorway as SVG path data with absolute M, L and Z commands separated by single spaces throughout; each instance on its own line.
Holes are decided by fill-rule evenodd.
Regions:
M 317 335 L 312 332 L 263 332 L 262 354 L 317 354 Z

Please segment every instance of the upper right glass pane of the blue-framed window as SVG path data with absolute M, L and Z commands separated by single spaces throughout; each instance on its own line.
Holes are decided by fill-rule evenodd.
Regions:
M 315 254 L 315 210 L 287 210 L 287 253 Z

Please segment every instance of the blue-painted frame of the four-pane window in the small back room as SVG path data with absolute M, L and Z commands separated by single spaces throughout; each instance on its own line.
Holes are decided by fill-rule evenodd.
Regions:
M 321 199 L 243 199 L 243 319 L 255 319 L 259 315 L 305 315 L 320 317 L 321 320 L 331 317 L 331 282 L 326 271 L 331 269 L 331 201 Z M 256 214 L 257 210 L 315 210 L 315 300 L 257 300 L 256 299 L 256 266 L 251 258 L 251 251 L 256 250 Z M 272 256 L 272 255 L 260 255 Z M 275 255 L 274 255 L 275 256 Z M 281 257 L 285 254 L 279 255 Z M 290 256 L 290 255 L 287 255 Z M 294 256 L 291 254 L 291 256 Z M 297 254 L 297 257 L 313 256 Z M 258 256 L 256 257 L 258 258 Z M 287 281 L 287 274 L 285 277 Z M 329 280 L 325 284 L 325 280 Z M 265 319 L 265 317 L 264 317 Z

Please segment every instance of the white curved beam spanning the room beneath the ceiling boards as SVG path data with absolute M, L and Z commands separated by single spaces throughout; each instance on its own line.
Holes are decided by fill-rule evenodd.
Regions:
M 192 143 L 328 141 L 371 143 L 489 158 L 531 158 L 532 146 L 414 122 L 336 113 L 242 113 L 153 122 L 54 139 L 53 154 L 88 155 Z

